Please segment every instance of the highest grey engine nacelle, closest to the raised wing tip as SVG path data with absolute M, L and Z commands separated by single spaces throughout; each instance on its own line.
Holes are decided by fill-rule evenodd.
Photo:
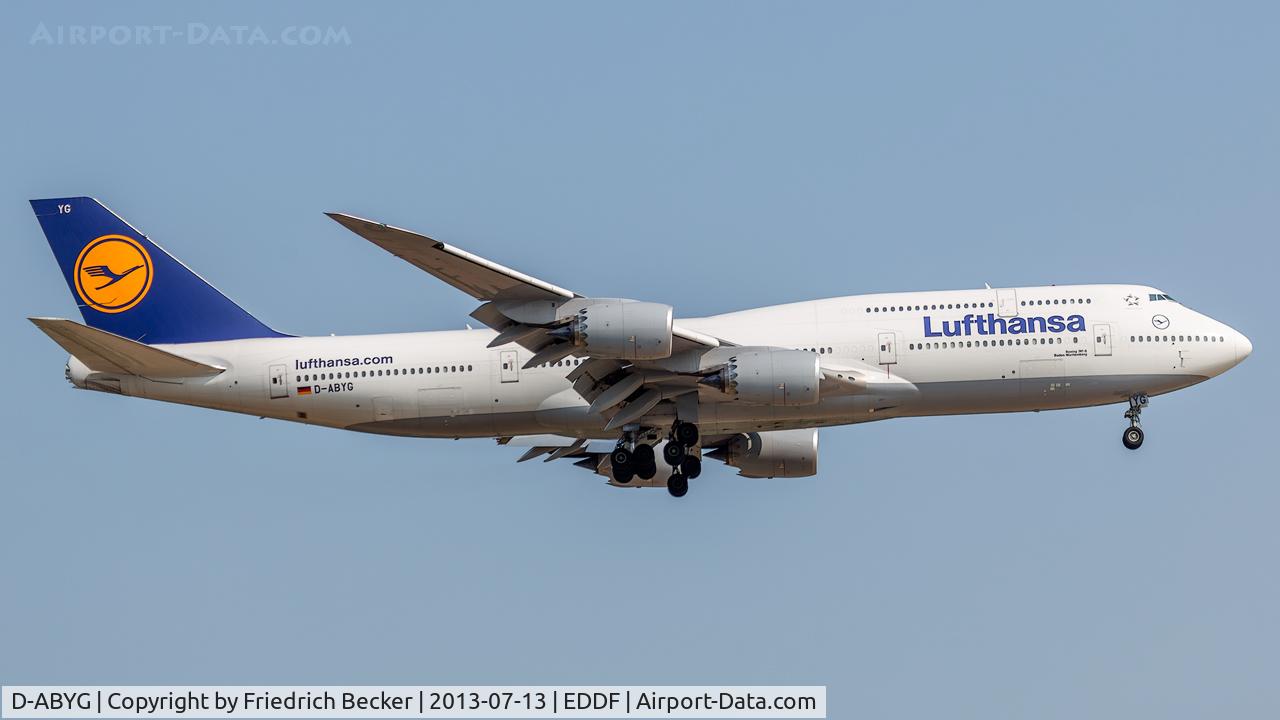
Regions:
M 671 357 L 671 305 L 605 300 L 579 310 L 564 331 L 594 357 L 662 360 Z

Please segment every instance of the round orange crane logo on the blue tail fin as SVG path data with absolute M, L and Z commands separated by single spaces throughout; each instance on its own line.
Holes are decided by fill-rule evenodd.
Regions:
M 104 234 L 76 259 L 76 295 L 99 313 L 123 313 L 147 296 L 152 274 L 151 255 L 141 242 Z

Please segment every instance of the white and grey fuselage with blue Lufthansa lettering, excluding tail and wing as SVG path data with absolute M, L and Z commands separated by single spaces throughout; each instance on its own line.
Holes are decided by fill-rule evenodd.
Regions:
M 1152 300 L 1156 297 L 1157 300 Z M 797 407 L 722 402 L 700 391 L 704 434 L 896 416 L 1080 407 L 1196 384 L 1243 360 L 1236 331 L 1146 286 L 1053 286 L 856 295 L 677 323 L 735 345 L 809 348 L 824 368 L 883 372 L 906 393 L 863 392 Z M 966 319 L 968 316 L 968 319 Z M 617 437 L 566 374 L 530 352 L 486 347 L 489 329 L 285 337 L 159 346 L 227 368 L 148 380 L 91 373 L 77 387 L 364 432 L 415 437 L 558 433 Z M 310 388 L 310 392 L 306 389 Z M 646 416 L 646 424 L 662 421 Z

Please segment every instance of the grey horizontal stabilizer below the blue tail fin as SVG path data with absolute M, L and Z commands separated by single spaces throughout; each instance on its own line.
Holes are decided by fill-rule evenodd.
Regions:
M 143 378 L 198 378 L 216 375 L 224 370 L 74 320 L 28 319 L 91 370 Z

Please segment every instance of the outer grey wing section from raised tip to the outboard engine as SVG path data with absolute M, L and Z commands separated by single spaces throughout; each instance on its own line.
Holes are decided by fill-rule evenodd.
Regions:
M 572 291 L 504 268 L 425 234 L 375 223 L 344 213 L 325 213 L 343 227 L 383 250 L 408 260 L 476 300 L 497 297 L 577 297 Z

